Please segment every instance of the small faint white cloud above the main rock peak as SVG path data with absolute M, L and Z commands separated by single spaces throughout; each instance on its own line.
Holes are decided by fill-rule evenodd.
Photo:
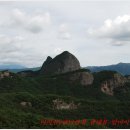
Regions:
M 59 38 L 64 40 L 70 40 L 71 34 L 66 24 L 61 24 L 59 27 Z

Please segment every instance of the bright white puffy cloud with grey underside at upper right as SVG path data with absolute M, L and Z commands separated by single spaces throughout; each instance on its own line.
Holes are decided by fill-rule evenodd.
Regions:
M 130 15 L 107 19 L 100 28 L 89 29 L 87 32 L 90 37 L 107 39 L 113 45 L 125 45 L 130 43 Z

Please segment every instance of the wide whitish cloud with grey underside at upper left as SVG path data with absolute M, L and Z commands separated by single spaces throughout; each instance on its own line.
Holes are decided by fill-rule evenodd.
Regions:
M 10 27 L 23 28 L 32 33 L 39 33 L 50 26 L 50 24 L 51 16 L 48 12 L 39 12 L 31 15 L 19 9 L 14 9 L 9 23 L 6 23 L 5 26 L 9 25 Z

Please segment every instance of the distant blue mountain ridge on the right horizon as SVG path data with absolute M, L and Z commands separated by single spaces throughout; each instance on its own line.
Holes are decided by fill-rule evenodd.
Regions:
M 130 75 L 130 63 L 119 63 L 108 66 L 88 66 L 86 68 L 91 70 L 92 72 L 111 70 L 111 71 L 117 71 L 118 73 L 121 73 L 123 75 Z

